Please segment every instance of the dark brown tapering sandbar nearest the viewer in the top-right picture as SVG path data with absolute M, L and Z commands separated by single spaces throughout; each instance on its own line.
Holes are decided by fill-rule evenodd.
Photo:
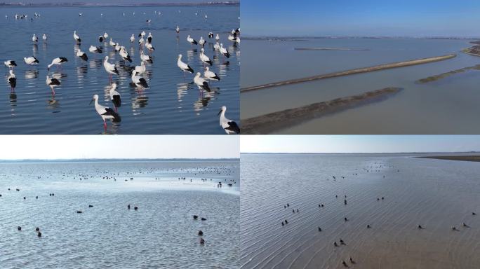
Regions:
M 361 95 L 341 97 L 326 102 L 319 102 L 301 106 L 295 109 L 276 111 L 262 116 L 241 120 L 242 133 L 244 134 L 269 134 L 276 130 L 298 124 L 305 120 L 326 116 L 331 113 L 345 111 L 356 106 L 380 102 L 399 92 L 401 88 L 384 88 Z

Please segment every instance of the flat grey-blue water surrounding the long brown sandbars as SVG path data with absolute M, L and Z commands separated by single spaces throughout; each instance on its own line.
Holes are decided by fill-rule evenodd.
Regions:
M 471 67 L 480 57 L 460 53 L 466 40 L 307 39 L 244 40 L 241 87 L 302 78 L 376 64 L 457 53 L 452 60 L 288 85 L 241 95 L 241 118 L 322 102 L 386 87 L 404 91 L 386 101 L 300 123 L 278 133 L 319 134 L 474 134 L 480 132 L 477 81 L 467 71 L 426 84 L 420 78 Z M 368 51 L 299 51 L 293 48 L 356 48 Z M 246 55 L 246 56 L 245 56 Z M 246 58 L 245 58 L 246 57 Z M 267 63 L 268 68 L 262 68 Z M 428 123 L 428 124 L 425 124 Z

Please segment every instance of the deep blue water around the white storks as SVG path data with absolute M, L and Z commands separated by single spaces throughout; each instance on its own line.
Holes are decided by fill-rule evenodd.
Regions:
M 161 15 L 154 12 L 161 12 Z M 40 18 L 34 18 L 34 13 Z M 133 15 L 135 12 L 135 15 Z M 143 13 L 146 14 L 143 14 Z M 15 13 L 28 14 L 28 20 L 13 18 Z M 79 17 L 79 13 L 83 13 Z M 100 14 L 103 13 L 103 16 Z M 125 13 L 125 16 L 122 15 Z M 198 15 L 195 15 L 198 13 Z M 204 15 L 208 15 L 205 20 Z M 4 15 L 9 18 L 5 19 Z M 121 123 L 109 123 L 107 133 L 116 134 L 222 134 L 218 123 L 220 107 L 227 106 L 227 116 L 239 118 L 239 64 L 240 45 L 232 46 L 228 33 L 239 27 L 238 6 L 213 7 L 102 7 L 102 8 L 3 8 L 0 32 L 8 33 L 8 39 L 0 43 L 0 59 L 16 60 L 16 97 L 11 98 L 8 83 L 4 83 L 4 95 L 0 97 L 0 129 L 9 134 L 99 134 L 104 132 L 102 120 L 92 105 L 93 95 L 100 96 L 100 104 L 112 107 L 107 90 L 108 74 L 102 60 L 109 55 L 109 62 L 120 64 L 120 56 L 108 43 L 100 43 L 98 36 L 107 32 L 109 37 L 130 53 L 132 66 L 140 64 L 138 34 L 152 32 L 155 48 L 153 64 L 147 64 L 143 76 L 150 88 L 138 90 L 129 85 L 131 76 L 119 68 L 120 76 L 114 76 L 116 89 L 121 94 L 119 108 Z M 30 21 L 30 18 L 34 18 Z M 152 22 L 147 24 L 147 19 Z M 176 25 L 180 26 L 177 39 Z M 81 50 L 87 53 L 88 62 L 75 56 L 72 37 L 76 30 L 82 39 Z M 193 76 L 185 79 L 177 67 L 177 56 L 187 62 L 194 71 L 201 71 L 199 46 L 186 41 L 190 34 L 197 41 L 200 36 L 208 40 L 208 32 L 220 34 L 220 41 L 232 55 L 228 64 L 215 53 L 213 43 L 206 43 L 206 55 L 213 60 L 212 71 L 221 78 L 213 83 L 215 90 L 203 94 L 192 83 Z M 39 36 L 39 43 L 32 43 L 32 34 Z M 48 35 L 47 43 L 41 34 Z M 130 43 L 135 34 L 135 43 Z M 147 37 L 145 36 L 145 39 Z M 88 52 L 88 48 L 102 46 L 102 54 Z M 145 50 L 146 52 L 147 50 Z M 38 66 L 27 66 L 23 57 L 34 55 Z M 69 62 L 61 70 L 55 67 L 47 72 L 46 66 L 55 57 L 67 57 Z M 121 63 L 123 64 L 123 63 Z M 55 98 L 45 83 L 46 75 L 58 76 L 62 85 L 55 89 Z

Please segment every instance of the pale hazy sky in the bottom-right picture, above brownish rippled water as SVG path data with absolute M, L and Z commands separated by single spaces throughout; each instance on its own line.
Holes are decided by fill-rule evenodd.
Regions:
M 480 151 L 480 135 L 242 135 L 242 153 Z

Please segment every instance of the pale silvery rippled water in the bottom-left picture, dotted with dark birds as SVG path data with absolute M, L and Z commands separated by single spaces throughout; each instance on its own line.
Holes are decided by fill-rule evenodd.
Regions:
M 0 177 L 1 268 L 239 267 L 239 160 L 1 163 Z

